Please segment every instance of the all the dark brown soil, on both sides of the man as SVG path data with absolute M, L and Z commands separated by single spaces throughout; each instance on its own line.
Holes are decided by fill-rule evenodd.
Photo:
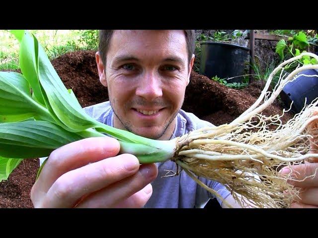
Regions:
M 98 80 L 94 52 L 73 52 L 52 62 L 66 87 L 72 88 L 82 107 L 108 100 L 107 89 Z M 215 125 L 229 123 L 250 105 L 262 88 L 255 82 L 243 90 L 235 90 L 196 72 L 191 73 L 182 109 L 194 113 Z M 275 102 L 265 114 L 281 114 L 282 106 Z M 291 118 L 287 114 L 283 120 Z M 37 159 L 26 159 L 0 182 L 0 208 L 32 208 L 30 191 L 39 168 Z

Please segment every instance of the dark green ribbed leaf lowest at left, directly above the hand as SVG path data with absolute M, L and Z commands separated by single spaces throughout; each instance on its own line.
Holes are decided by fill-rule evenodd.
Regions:
M 0 124 L 0 156 L 45 157 L 68 143 L 85 138 L 47 121 L 28 120 Z

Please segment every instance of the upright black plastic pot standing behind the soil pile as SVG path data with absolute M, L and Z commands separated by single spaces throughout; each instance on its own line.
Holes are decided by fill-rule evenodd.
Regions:
M 248 52 L 248 48 L 233 44 L 202 42 L 200 74 L 225 79 L 243 75 Z M 241 81 L 242 77 L 228 80 L 229 83 Z

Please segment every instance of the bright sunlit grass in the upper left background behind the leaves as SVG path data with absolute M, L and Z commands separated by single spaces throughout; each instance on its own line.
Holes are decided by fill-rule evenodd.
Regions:
M 68 52 L 97 48 L 96 30 L 29 30 L 50 60 Z M 93 33 L 93 34 L 87 34 Z M 92 44 L 96 41 L 96 44 Z M 0 70 L 18 69 L 19 44 L 7 30 L 0 30 Z

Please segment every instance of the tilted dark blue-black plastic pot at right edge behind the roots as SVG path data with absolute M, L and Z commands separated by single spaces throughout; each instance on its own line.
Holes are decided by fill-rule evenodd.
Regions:
M 299 74 L 318 75 L 318 70 L 308 69 Z M 307 105 L 311 104 L 318 97 L 318 77 L 299 76 L 294 81 L 285 85 L 280 93 L 280 97 L 286 108 L 289 108 L 292 101 L 294 101 L 291 110 L 294 113 L 299 113 L 305 106 L 306 97 Z

